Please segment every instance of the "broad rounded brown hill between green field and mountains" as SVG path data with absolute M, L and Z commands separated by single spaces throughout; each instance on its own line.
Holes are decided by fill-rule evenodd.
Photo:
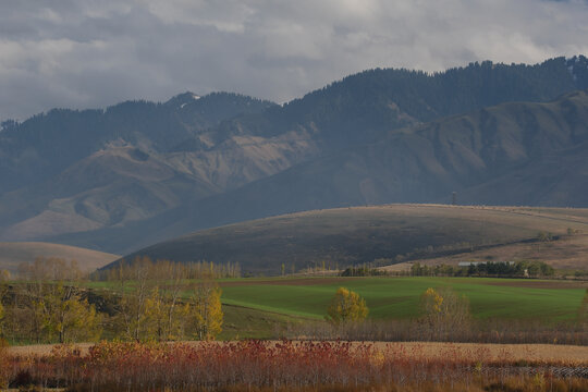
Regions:
M 578 212 L 578 213 L 576 213 Z M 306 267 L 394 264 L 588 231 L 585 210 L 388 205 L 315 210 L 203 230 L 125 256 L 238 262 L 278 274 Z M 109 265 L 106 268 L 112 267 Z

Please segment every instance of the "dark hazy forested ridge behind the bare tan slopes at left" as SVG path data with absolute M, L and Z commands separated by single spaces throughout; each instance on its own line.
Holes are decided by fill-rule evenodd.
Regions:
M 221 120 L 259 112 L 274 103 L 234 94 L 195 99 L 191 93 L 166 103 L 127 101 L 106 110 L 53 109 L 0 132 L 1 193 L 59 174 L 112 142 L 168 151 Z

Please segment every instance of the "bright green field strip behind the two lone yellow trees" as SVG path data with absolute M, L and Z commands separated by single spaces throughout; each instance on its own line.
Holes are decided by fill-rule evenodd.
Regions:
M 221 285 L 226 305 L 307 319 L 322 319 L 340 286 L 359 293 L 373 319 L 417 317 L 425 290 L 451 286 L 469 299 L 475 318 L 546 323 L 574 320 L 586 291 L 583 283 L 481 278 L 275 278 Z

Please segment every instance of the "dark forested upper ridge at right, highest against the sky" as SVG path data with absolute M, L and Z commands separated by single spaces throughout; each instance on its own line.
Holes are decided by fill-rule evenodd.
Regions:
M 510 101 L 539 102 L 588 88 L 588 59 L 556 58 L 541 64 L 471 63 L 436 74 L 370 70 L 309 93 L 262 115 L 221 124 L 225 133 L 275 134 L 305 128 L 323 148 L 377 139 L 382 131 L 429 122 Z

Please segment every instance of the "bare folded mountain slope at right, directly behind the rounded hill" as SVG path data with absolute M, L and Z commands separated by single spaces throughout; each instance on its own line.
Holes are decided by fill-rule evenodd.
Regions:
M 587 156 L 588 91 L 576 91 L 553 102 L 503 103 L 392 132 L 379 143 L 183 205 L 156 217 L 149 226 L 158 229 L 149 233 L 133 229 L 157 242 L 293 211 L 450 203 L 453 192 L 460 204 L 584 207 Z M 111 236 L 96 238 L 106 244 Z

